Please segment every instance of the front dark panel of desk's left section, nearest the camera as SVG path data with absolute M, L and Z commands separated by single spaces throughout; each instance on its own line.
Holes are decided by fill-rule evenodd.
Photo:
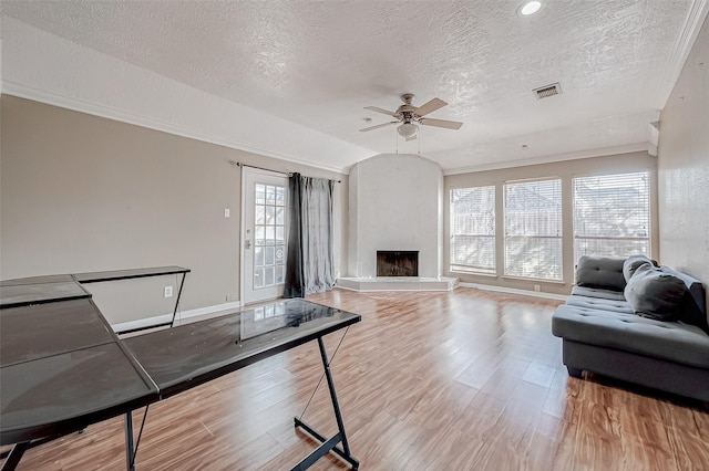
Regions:
M 113 342 L 0 368 L 0 444 L 59 436 L 158 400 Z

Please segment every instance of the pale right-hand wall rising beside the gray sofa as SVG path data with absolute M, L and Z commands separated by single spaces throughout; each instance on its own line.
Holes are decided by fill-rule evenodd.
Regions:
M 709 20 L 660 116 L 662 263 L 709 284 Z

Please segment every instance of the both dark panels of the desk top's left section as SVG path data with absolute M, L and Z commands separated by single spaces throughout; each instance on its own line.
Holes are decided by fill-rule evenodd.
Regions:
M 79 430 L 158 399 L 91 300 L 0 311 L 0 444 Z

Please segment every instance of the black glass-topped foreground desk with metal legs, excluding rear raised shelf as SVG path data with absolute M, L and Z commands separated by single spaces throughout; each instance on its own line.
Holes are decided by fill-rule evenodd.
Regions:
M 321 444 L 294 469 L 306 469 L 329 451 L 357 469 L 322 337 L 360 320 L 357 314 L 289 300 L 120 339 L 90 297 L 2 304 L 0 444 L 16 443 L 2 469 L 14 469 L 32 446 L 125 415 L 126 467 L 132 470 L 140 442 L 138 433 L 134 443 L 133 410 L 314 339 L 320 347 L 338 433 L 322 437 L 296 419 L 296 427 Z

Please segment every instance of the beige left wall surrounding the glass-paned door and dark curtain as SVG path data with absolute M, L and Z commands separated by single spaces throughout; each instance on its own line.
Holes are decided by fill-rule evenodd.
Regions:
M 335 250 L 347 266 L 346 175 L 9 95 L 0 113 L 2 280 L 174 264 L 192 269 L 183 310 L 238 301 L 242 178 L 230 161 L 342 180 Z

